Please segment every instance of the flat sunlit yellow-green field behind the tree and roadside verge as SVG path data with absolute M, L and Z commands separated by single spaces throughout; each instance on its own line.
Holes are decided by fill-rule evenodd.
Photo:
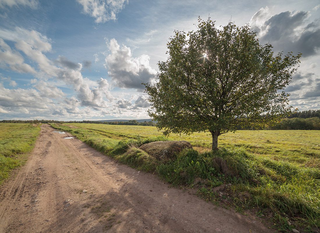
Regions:
M 53 124 L 55 125 L 55 124 Z M 152 126 L 104 125 L 71 123 L 58 124 L 59 129 L 75 132 L 79 139 L 95 140 L 112 147 L 122 139 L 162 136 Z M 212 137 L 207 133 L 192 135 L 170 134 L 171 140 L 186 140 L 199 152 L 211 150 Z M 219 136 L 219 147 L 242 148 L 245 151 L 276 161 L 290 162 L 301 167 L 320 168 L 319 130 L 239 130 Z

